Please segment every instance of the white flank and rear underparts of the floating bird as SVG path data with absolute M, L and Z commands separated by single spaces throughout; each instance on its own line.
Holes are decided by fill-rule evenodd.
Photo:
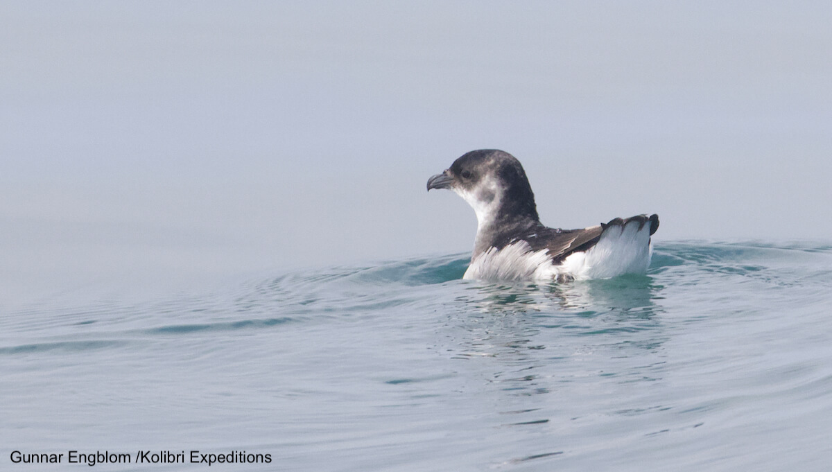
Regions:
M 473 205 L 472 205 L 473 206 Z M 610 226 L 598 243 L 586 252 L 572 253 L 562 263 L 552 264 L 546 250 L 532 251 L 525 241 L 501 250 L 490 248 L 471 261 L 463 278 L 481 280 L 576 280 L 612 278 L 625 273 L 646 273 L 653 253 L 650 224 L 638 228 Z

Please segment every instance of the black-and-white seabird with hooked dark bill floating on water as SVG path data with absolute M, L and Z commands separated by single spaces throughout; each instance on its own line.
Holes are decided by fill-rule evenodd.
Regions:
M 566 282 L 646 273 L 650 267 L 657 214 L 584 229 L 547 228 L 537 217 L 520 161 L 508 152 L 468 152 L 428 179 L 430 189 L 453 190 L 477 214 L 477 237 L 463 278 Z

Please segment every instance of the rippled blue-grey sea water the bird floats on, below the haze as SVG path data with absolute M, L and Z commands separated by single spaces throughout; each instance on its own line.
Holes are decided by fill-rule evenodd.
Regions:
M 647 276 L 561 285 L 467 263 L 5 308 L 0 469 L 830 470 L 832 245 L 658 243 Z

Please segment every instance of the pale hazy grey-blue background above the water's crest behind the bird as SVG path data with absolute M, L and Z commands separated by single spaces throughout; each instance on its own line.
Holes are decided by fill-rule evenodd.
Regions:
M 832 236 L 829 2 L 0 2 L 0 296 L 470 250 L 544 223 Z

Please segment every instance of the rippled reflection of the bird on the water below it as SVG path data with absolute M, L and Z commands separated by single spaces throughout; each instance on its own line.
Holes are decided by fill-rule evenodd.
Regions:
M 448 314 L 453 359 L 491 386 L 501 407 L 494 427 L 519 433 L 560 430 L 603 413 L 560 402 L 661 381 L 663 287 L 649 277 L 564 284 L 470 283 Z M 598 399 L 595 399 L 598 401 Z M 600 403 L 603 404 L 601 400 Z M 641 406 L 644 411 L 660 406 Z M 552 451 L 530 450 L 528 458 Z M 557 451 L 555 451 L 557 453 Z M 518 458 L 513 458 L 518 460 Z M 512 462 L 510 460 L 509 462 Z

